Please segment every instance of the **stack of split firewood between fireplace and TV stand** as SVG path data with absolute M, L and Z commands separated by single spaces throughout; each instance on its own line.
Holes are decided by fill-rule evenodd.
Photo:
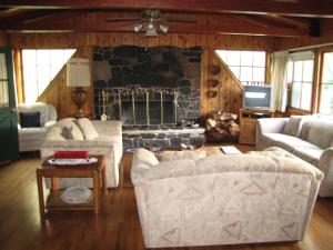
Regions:
M 240 136 L 240 126 L 236 123 L 238 114 L 214 111 L 206 116 L 205 131 L 210 142 L 234 142 Z

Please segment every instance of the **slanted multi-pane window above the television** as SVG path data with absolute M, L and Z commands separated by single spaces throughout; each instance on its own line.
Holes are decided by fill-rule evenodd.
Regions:
M 216 50 L 216 53 L 242 84 L 265 82 L 264 51 Z

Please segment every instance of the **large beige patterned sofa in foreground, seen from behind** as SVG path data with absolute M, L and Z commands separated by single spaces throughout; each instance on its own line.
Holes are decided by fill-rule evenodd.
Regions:
M 286 153 L 159 162 L 133 156 L 147 248 L 302 240 L 323 173 Z

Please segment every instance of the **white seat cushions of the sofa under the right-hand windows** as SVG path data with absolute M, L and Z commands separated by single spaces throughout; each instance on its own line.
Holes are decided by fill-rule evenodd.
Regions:
M 289 152 L 293 152 L 295 148 L 319 149 L 315 144 L 283 133 L 265 133 L 264 137 L 269 146 L 276 146 Z

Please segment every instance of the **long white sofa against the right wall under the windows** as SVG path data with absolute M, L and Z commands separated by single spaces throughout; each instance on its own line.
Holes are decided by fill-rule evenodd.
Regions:
M 319 194 L 333 196 L 333 120 L 321 116 L 264 118 L 256 123 L 256 149 L 279 147 L 317 167 L 325 178 Z

